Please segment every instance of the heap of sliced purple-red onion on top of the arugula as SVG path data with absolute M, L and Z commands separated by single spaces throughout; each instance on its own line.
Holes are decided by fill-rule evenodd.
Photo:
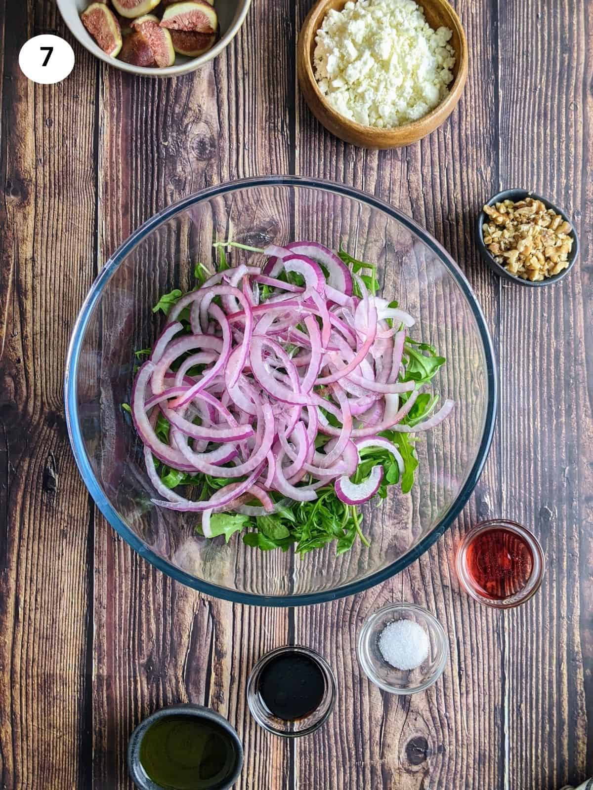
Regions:
M 204 513 L 205 534 L 217 510 L 276 510 L 266 489 L 305 502 L 334 483 L 344 501 L 365 501 L 376 492 L 368 494 L 380 472 L 373 468 L 371 478 L 353 488 L 349 477 L 360 460 L 357 446 L 382 446 L 401 472 L 397 448 L 376 434 L 387 428 L 429 430 L 452 408 L 446 401 L 417 426 L 400 425 L 418 395 L 414 382 L 398 382 L 406 327 L 414 319 L 369 295 L 361 277 L 352 277 L 321 245 L 294 243 L 267 252 L 276 259 L 270 258 L 263 273 L 255 266 L 227 269 L 179 299 L 134 381 L 132 417 L 149 478 L 168 500 L 162 506 Z M 303 276 L 306 288 L 278 280 L 274 274 L 282 269 Z M 352 295 L 353 278 L 361 299 Z M 259 284 L 275 289 L 261 304 Z M 217 297 L 223 309 L 213 301 Z M 179 336 L 187 324 L 176 318 L 186 308 L 192 333 Z M 404 329 L 394 333 L 387 319 Z M 197 365 L 204 366 L 202 373 L 188 377 Z M 405 392 L 410 394 L 400 408 L 399 394 Z M 154 431 L 159 409 L 171 425 L 169 444 Z M 338 420 L 338 428 L 322 409 Z M 196 416 L 202 424 L 195 425 Z M 353 427 L 353 416 L 362 427 Z M 318 451 L 319 433 L 333 438 Z M 214 449 L 208 450 L 211 443 Z M 226 477 L 229 484 L 209 502 L 191 502 L 164 486 L 153 456 L 182 471 Z M 243 476 L 247 480 L 238 483 Z M 250 497 L 263 506 L 246 506 Z

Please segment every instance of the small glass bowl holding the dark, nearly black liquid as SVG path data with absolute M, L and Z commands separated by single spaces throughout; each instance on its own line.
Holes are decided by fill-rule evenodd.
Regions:
M 279 719 L 273 713 L 270 713 L 259 694 L 259 679 L 264 668 L 271 660 L 285 653 L 300 653 L 303 656 L 308 656 L 308 658 L 315 661 L 325 681 L 325 692 L 319 706 L 309 716 L 293 721 Z M 255 664 L 247 680 L 247 703 L 251 710 L 251 716 L 264 730 L 271 732 L 272 735 L 280 735 L 282 738 L 300 738 L 301 735 L 309 735 L 315 732 L 316 729 L 319 729 L 334 709 L 336 694 L 337 684 L 333 669 L 323 656 L 320 656 L 315 650 L 302 645 L 285 645 L 285 647 L 272 650 L 271 653 L 266 653 Z

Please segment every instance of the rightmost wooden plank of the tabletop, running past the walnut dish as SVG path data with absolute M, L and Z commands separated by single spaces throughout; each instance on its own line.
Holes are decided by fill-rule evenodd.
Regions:
M 542 592 L 512 612 L 504 630 L 511 787 L 578 784 L 593 770 L 593 664 L 586 649 L 591 601 L 585 596 L 591 594 L 591 572 L 583 570 L 591 557 L 585 513 L 593 444 L 584 367 L 591 333 L 587 337 L 584 307 L 591 299 L 593 204 L 591 101 L 581 101 L 591 82 L 592 21 L 585 2 L 553 9 L 500 5 L 502 188 L 524 184 L 550 197 L 572 216 L 586 242 L 580 264 L 561 285 L 536 292 L 509 288 L 500 305 L 508 352 L 500 358 L 507 382 L 500 410 L 503 508 L 534 529 L 549 565 Z M 511 55 L 516 47 L 519 57 Z

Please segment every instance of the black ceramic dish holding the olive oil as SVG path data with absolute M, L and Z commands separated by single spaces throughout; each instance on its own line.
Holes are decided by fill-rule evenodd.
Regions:
M 157 784 L 150 779 L 142 767 L 140 759 L 142 739 L 155 722 L 168 717 L 176 718 L 180 716 L 193 717 L 202 722 L 210 722 L 224 730 L 225 734 L 229 736 L 229 741 L 232 743 L 234 750 L 234 765 L 229 770 L 228 776 L 225 777 L 224 781 L 217 781 L 215 784 L 212 784 L 212 790 L 229 790 L 235 784 L 243 767 L 243 745 L 240 742 L 239 735 L 236 734 L 231 724 L 219 713 L 210 710 L 210 708 L 204 708 L 202 705 L 192 705 L 191 703 L 171 705 L 168 708 L 157 710 L 156 713 L 141 721 L 134 732 L 132 732 L 127 747 L 127 764 L 134 784 L 139 790 L 165 790 L 163 785 Z

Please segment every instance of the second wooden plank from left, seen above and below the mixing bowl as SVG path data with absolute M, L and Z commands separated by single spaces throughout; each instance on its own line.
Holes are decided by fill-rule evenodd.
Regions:
M 289 52 L 252 46 L 292 35 L 281 9 L 269 11 L 252 10 L 225 55 L 186 77 L 102 73 L 100 259 L 143 220 L 191 192 L 288 170 Z M 263 134 L 268 114 L 277 134 Z M 176 276 L 169 261 L 159 267 L 159 282 L 147 278 L 137 286 L 147 310 L 159 283 Z M 191 287 L 189 280 L 182 285 Z M 255 661 L 289 641 L 289 612 L 213 600 L 173 582 L 100 517 L 94 565 L 94 790 L 127 788 L 132 728 L 157 707 L 188 700 L 210 705 L 237 728 L 245 748 L 237 787 L 292 787 L 289 744 L 255 724 L 245 688 Z

